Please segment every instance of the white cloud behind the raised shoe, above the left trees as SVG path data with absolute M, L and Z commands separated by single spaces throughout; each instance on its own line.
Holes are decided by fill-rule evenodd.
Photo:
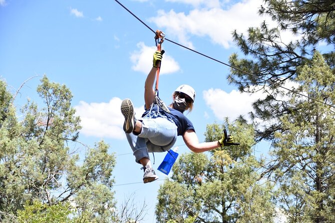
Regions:
M 75 108 L 76 115 L 79 115 L 82 120 L 81 133 L 87 136 L 124 139 L 121 102 L 122 100 L 118 97 L 113 97 L 108 103 L 80 101 Z M 134 109 L 137 118 L 144 112 L 143 106 Z

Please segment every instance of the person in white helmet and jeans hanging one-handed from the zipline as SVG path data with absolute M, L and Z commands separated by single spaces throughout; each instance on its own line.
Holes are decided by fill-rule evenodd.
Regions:
M 136 162 L 142 164 L 144 170 L 143 182 L 152 182 L 158 179 L 151 166 L 149 152 L 169 151 L 181 135 L 186 146 L 193 152 L 204 152 L 211 149 L 239 145 L 233 141 L 224 129 L 219 140 L 199 142 L 192 122 L 184 115 L 184 111 L 191 111 L 195 100 L 195 90 L 187 84 L 179 85 L 172 95 L 172 103 L 166 106 L 158 96 L 158 77 L 160 64 L 164 54 L 161 43 L 163 33 L 156 31 L 155 39 L 157 51 L 153 55 L 153 66 L 149 71 L 144 84 L 144 108 L 140 119 L 136 119 L 131 99 L 126 98 L 121 103 L 121 112 L 125 117 L 123 129 L 132 148 Z M 156 79 L 155 90 L 153 89 Z

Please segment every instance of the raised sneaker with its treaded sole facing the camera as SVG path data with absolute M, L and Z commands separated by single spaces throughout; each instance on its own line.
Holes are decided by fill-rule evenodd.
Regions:
M 124 99 L 121 103 L 121 112 L 125 117 L 123 124 L 123 130 L 126 133 L 131 133 L 136 127 L 136 118 L 134 112 L 134 106 L 130 99 Z

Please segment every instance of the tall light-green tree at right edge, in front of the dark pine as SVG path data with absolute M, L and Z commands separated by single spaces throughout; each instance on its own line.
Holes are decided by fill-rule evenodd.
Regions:
M 296 91 L 334 104 L 335 75 L 319 52 L 297 74 Z M 274 134 L 273 161 L 264 173 L 278 182 L 288 222 L 334 222 L 334 107 L 301 94 L 289 95 L 291 112 L 280 118 L 285 130 Z

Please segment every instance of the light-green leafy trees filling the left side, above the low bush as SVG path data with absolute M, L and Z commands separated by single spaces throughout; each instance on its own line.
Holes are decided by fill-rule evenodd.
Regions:
M 44 76 L 37 92 L 45 107 L 28 101 L 17 116 L 14 97 L 0 81 L 0 218 L 39 200 L 50 206 L 69 202 L 89 222 L 110 222 L 114 154 L 104 141 L 84 157 L 70 147 L 81 126 L 68 87 Z

